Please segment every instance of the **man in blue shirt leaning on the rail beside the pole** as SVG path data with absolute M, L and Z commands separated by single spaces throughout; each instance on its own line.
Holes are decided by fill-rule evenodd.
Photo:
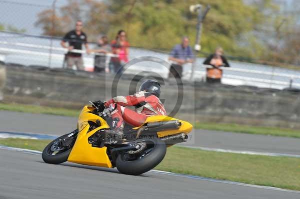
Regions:
M 193 62 L 193 53 L 191 47 L 188 45 L 189 40 L 187 37 L 182 38 L 181 44 L 177 44 L 173 47 L 169 60 L 172 62 L 168 77 L 174 76 L 175 78 L 181 78 L 182 65 L 185 63 Z

